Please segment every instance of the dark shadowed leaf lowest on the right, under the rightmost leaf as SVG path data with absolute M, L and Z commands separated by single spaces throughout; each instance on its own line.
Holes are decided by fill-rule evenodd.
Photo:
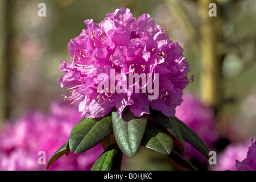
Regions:
M 189 169 L 192 171 L 198 171 L 198 169 L 195 166 L 193 166 L 193 164 L 188 162 L 188 160 L 184 159 L 174 150 L 172 150 L 171 154 L 169 154 L 168 157 L 171 159 L 172 164 L 174 164 L 176 168 L 179 168 L 181 170 Z

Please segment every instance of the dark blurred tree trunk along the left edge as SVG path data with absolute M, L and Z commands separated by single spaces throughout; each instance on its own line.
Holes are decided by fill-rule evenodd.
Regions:
M 11 77 L 15 63 L 14 15 L 16 0 L 1 1 L 0 120 L 10 117 Z

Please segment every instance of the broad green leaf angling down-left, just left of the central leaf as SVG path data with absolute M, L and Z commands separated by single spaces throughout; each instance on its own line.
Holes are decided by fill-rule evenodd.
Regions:
M 113 133 L 111 116 L 88 118 L 73 127 L 69 136 L 69 148 L 79 154 L 96 146 Z

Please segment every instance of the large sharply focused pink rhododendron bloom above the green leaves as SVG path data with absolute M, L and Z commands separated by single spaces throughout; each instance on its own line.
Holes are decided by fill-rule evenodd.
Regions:
M 80 111 L 88 118 L 104 117 L 114 107 L 121 117 L 126 106 L 137 117 L 149 114 L 150 106 L 167 117 L 174 116 L 175 107 L 181 104 L 183 89 L 193 80 L 187 78 L 189 64 L 179 44 L 171 42 L 150 15 L 143 14 L 136 20 L 125 7 L 107 14 L 98 24 L 92 19 L 84 23 L 88 28 L 68 43 L 71 63 L 63 61 L 60 65 L 65 73 L 58 82 L 72 92 L 71 96 L 63 96 L 64 100 L 71 104 L 80 100 Z M 140 87 L 142 91 L 144 86 L 135 82 L 129 85 L 134 87 L 134 92 L 126 86 L 121 93 L 110 89 L 109 93 L 100 92 L 101 73 L 108 76 L 104 81 L 108 81 L 109 87 L 122 84 L 124 76 L 128 78 L 129 74 L 151 75 L 146 85 L 159 83 L 154 88 L 158 96 L 148 99 L 152 96 L 148 87 L 146 93 L 135 92 L 135 88 Z M 116 80 L 118 74 L 122 74 L 122 78 Z

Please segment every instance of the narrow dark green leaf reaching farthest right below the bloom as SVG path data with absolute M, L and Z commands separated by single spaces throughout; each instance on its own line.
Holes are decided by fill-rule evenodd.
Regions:
M 183 139 L 192 144 L 193 147 L 209 158 L 209 149 L 199 135 L 197 135 L 190 127 L 185 125 L 184 122 L 180 121 L 180 119 L 176 117 L 173 118 L 176 120 L 177 125 L 179 126 Z

